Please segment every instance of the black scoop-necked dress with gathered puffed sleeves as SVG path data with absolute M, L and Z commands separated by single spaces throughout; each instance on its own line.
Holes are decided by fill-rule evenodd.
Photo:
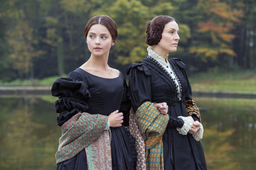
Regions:
M 79 112 L 106 116 L 115 110 L 123 112 L 123 125 L 110 127 L 112 169 L 134 169 L 137 153 L 134 137 L 125 128 L 129 125 L 130 101 L 127 96 L 126 80 L 121 72 L 117 78 L 102 78 L 77 68 L 66 78 L 58 78 L 52 89 L 57 89 L 52 91 L 52 94 L 60 98 L 55 102 L 55 110 L 60 113 L 57 118 L 59 126 Z M 85 150 L 73 158 L 57 164 L 56 169 L 87 170 Z

